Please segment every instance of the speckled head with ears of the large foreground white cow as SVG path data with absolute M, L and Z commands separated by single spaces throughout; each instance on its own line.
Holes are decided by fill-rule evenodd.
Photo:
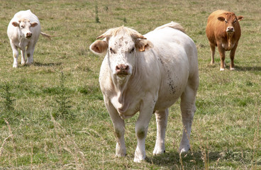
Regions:
M 117 77 L 132 74 L 137 52 L 144 52 L 152 47 L 152 43 L 143 35 L 123 26 L 111 28 L 98 38 L 104 40 L 96 40 L 89 48 L 94 53 L 107 52 L 111 73 Z

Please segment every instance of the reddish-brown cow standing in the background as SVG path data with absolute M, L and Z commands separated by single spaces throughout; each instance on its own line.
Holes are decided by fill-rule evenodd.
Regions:
M 206 24 L 206 36 L 209 38 L 211 47 L 211 64 L 214 63 L 216 46 L 221 56 L 221 71 L 225 69 L 225 52 L 231 51 L 231 70 L 234 69 L 235 50 L 238 47 L 238 40 L 241 35 L 240 25 L 243 16 L 235 16 L 235 13 L 218 10 L 209 15 Z

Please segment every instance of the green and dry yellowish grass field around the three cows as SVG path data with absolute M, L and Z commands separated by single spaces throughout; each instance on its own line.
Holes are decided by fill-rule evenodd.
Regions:
M 261 169 L 260 0 L 232 1 L 4 1 L 0 0 L 0 169 Z M 42 30 L 30 66 L 13 58 L 6 29 L 14 13 L 29 9 Z M 210 65 L 206 20 L 217 9 L 242 15 L 235 71 Z M 191 152 L 179 156 L 179 102 L 170 108 L 166 153 L 153 156 L 156 124 L 150 121 L 147 159 L 133 162 L 137 115 L 126 120 L 125 158 L 115 158 L 113 125 L 99 89 L 104 56 L 89 45 L 109 28 L 139 33 L 181 23 L 199 56 L 200 85 Z M 19 54 L 18 61 L 21 62 Z

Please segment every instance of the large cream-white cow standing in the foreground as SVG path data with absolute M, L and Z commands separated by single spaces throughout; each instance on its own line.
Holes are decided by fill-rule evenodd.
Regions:
M 99 82 L 104 103 L 116 134 L 116 156 L 126 155 L 124 119 L 140 111 L 135 123 L 138 145 L 134 162 L 145 159 L 145 137 L 152 113 L 157 121 L 153 154 L 165 152 L 168 108 L 181 98 L 183 136 L 179 152 L 190 148 L 191 124 L 196 111 L 199 72 L 196 45 L 178 23 L 168 23 L 140 35 L 126 28 L 111 28 L 90 45 L 95 53 L 106 52 Z

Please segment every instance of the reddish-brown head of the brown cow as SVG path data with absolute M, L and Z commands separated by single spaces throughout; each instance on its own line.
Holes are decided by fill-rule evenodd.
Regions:
M 218 20 L 226 23 L 226 32 L 234 33 L 235 26 L 238 26 L 238 21 L 241 21 L 243 16 L 235 16 L 235 13 L 225 13 L 225 16 L 219 16 Z

